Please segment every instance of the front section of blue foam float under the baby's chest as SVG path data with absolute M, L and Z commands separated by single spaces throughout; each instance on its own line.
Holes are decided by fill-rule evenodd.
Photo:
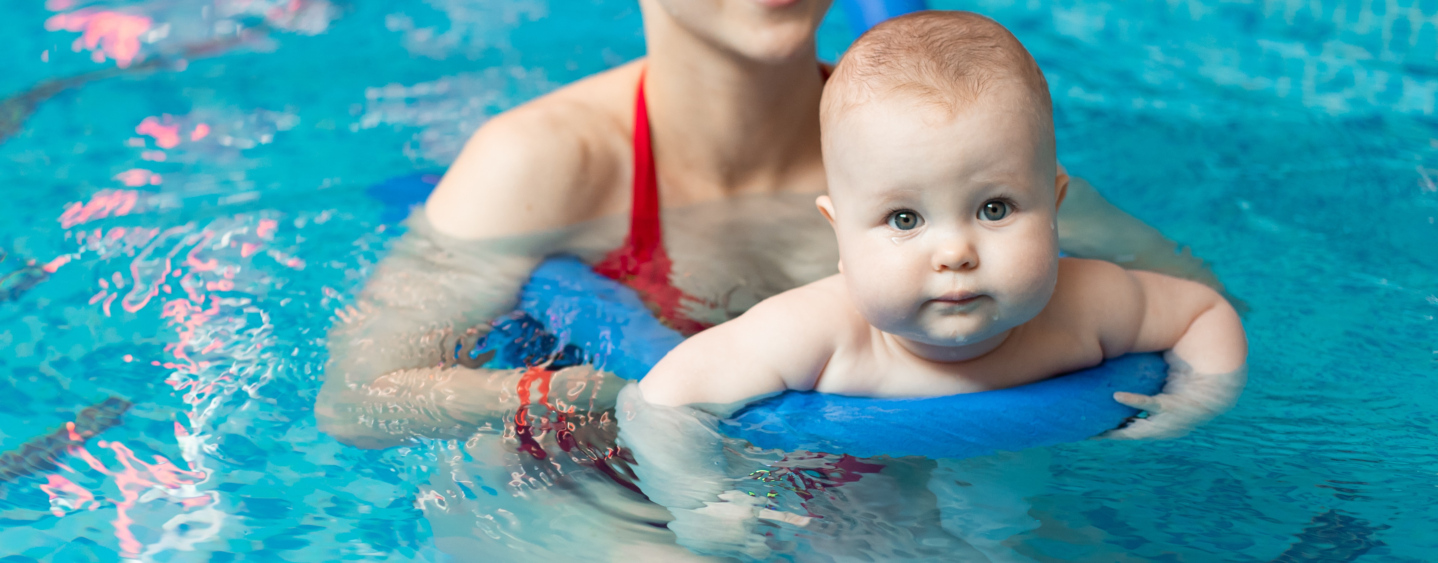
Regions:
M 1136 409 L 1114 391 L 1152 395 L 1168 363 L 1132 353 L 1037 383 L 926 399 L 867 399 L 787 392 L 726 421 L 726 434 L 761 448 L 860 457 L 966 458 L 1076 442 L 1117 428 Z

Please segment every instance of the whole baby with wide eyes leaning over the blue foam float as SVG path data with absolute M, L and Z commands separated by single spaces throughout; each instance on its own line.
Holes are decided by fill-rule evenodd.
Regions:
M 840 273 L 683 342 L 628 401 L 729 405 L 706 408 L 725 417 L 787 389 L 968 394 L 1169 350 L 1163 394 L 1114 395 L 1152 414 L 1120 432 L 1169 437 L 1222 412 L 1242 388 L 1244 329 L 1217 292 L 1058 256 L 1068 177 L 1054 155 L 1048 86 L 998 23 L 926 11 L 874 27 L 834 69 L 821 124 L 830 191 L 817 204 L 838 237 Z M 660 444 L 624 438 L 641 468 L 646 458 L 666 465 L 644 451 Z

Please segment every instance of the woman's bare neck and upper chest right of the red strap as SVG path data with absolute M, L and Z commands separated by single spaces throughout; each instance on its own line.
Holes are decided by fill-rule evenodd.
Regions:
M 664 17 L 660 16 L 660 20 Z M 812 42 L 758 62 L 647 19 L 644 93 L 654 162 L 670 204 L 743 192 L 821 191 Z

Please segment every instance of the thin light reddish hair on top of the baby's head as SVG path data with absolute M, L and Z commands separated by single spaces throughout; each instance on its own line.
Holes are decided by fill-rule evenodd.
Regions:
M 1027 90 L 1030 106 L 1053 126 L 1048 82 L 1012 33 L 972 11 L 916 11 L 854 40 L 834 68 L 821 111 L 830 118 L 905 95 L 952 116 L 1005 83 Z

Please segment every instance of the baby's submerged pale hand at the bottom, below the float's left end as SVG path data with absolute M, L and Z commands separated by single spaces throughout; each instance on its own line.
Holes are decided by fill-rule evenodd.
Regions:
M 764 501 L 742 491 L 729 490 L 719 495 L 718 503 L 703 507 L 674 510 L 669 529 L 677 536 L 680 546 L 703 554 L 736 554 L 764 560 L 771 554 L 764 533 L 758 531 L 759 520 L 787 521 L 805 526 L 810 517 L 794 513 L 764 508 Z

